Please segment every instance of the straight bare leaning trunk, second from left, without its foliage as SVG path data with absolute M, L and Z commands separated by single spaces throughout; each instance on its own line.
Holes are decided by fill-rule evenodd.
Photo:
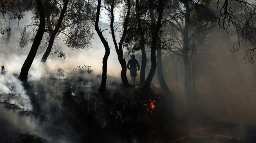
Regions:
M 47 46 L 47 49 L 45 51 L 45 53 L 43 54 L 43 57 L 41 59 L 41 62 L 42 63 L 45 63 L 51 50 L 52 50 L 52 45 L 54 43 L 54 39 L 55 39 L 55 36 L 57 34 L 57 32 L 59 31 L 59 28 L 61 27 L 61 23 L 62 23 L 62 20 L 63 18 L 65 17 L 65 13 L 66 13 L 66 10 L 67 10 L 67 4 L 68 4 L 69 0 L 65 0 L 64 1 L 64 5 L 63 5 L 63 8 L 61 10 L 61 15 L 59 16 L 59 19 L 58 19 L 58 22 L 55 26 L 55 29 L 54 31 L 52 32 L 51 36 L 50 36 L 50 40 L 49 40 L 49 43 L 48 43 L 48 46 Z

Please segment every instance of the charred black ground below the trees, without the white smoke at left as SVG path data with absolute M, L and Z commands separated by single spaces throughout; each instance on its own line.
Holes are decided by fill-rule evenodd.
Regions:
M 49 80 L 59 82 L 56 79 Z M 1 104 L 7 109 L 16 111 L 19 116 L 33 116 L 38 119 L 41 123 L 38 124 L 38 130 L 47 136 L 47 139 L 35 136 L 33 133 L 19 133 L 16 138 L 7 138 L 3 131 L 8 126 L 2 126 L 0 141 L 6 143 L 64 141 L 253 143 L 256 141 L 256 126 L 219 122 L 210 117 L 189 121 L 183 111 L 175 111 L 182 115 L 176 116 L 170 101 L 162 94 L 153 91 L 145 94 L 139 87 L 125 88 L 113 82 L 108 83 L 108 89 L 102 96 L 97 92 L 98 85 L 88 87 L 81 84 L 92 81 L 75 80 L 76 82 L 73 82 L 73 79 L 62 80 L 63 96 L 55 96 L 59 91 L 43 88 L 43 84 L 24 84 L 33 111 L 22 111 L 21 108 L 8 102 Z M 49 95 L 52 99 L 49 99 Z M 58 101 L 58 104 L 54 104 L 52 100 Z M 155 109 L 151 108 L 152 101 L 156 101 L 153 102 Z

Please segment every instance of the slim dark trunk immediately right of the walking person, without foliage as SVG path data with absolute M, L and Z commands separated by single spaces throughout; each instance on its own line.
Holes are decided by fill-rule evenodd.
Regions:
M 145 71 L 146 71 L 146 64 L 147 64 L 147 55 L 145 52 L 145 37 L 142 31 L 142 24 L 140 21 L 140 5 L 139 1 L 136 0 L 136 19 L 138 23 L 138 31 L 140 34 L 140 49 L 142 53 L 142 63 L 140 68 L 140 85 L 143 86 L 145 83 Z

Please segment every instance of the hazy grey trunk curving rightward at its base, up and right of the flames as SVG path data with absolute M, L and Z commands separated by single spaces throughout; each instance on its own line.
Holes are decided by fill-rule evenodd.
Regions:
M 164 90 L 166 94 L 171 94 L 163 76 L 163 66 L 162 66 L 162 50 L 157 50 L 157 77 L 158 82 L 161 86 L 161 88 Z

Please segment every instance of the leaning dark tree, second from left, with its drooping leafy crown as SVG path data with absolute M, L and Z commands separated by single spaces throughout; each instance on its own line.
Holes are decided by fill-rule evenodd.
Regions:
M 58 0 L 56 2 L 58 2 Z M 59 34 L 64 35 L 65 44 L 71 49 L 90 47 L 93 36 L 92 26 L 90 25 L 90 20 L 92 17 L 95 17 L 93 2 L 90 0 L 64 1 L 63 5 L 65 7 L 63 6 L 62 10 L 56 7 L 54 2 L 50 4 L 52 7 L 50 10 L 54 12 L 48 12 L 46 14 L 46 29 L 50 37 L 49 42 L 48 38 L 44 40 L 45 44 L 48 44 L 48 46 L 41 60 L 43 63 L 45 63 L 50 53 L 65 58 L 65 54 L 60 47 L 55 46 L 55 49 L 52 49 L 54 40 Z M 61 14 L 57 17 L 56 15 L 58 15 L 59 12 L 61 12 Z

